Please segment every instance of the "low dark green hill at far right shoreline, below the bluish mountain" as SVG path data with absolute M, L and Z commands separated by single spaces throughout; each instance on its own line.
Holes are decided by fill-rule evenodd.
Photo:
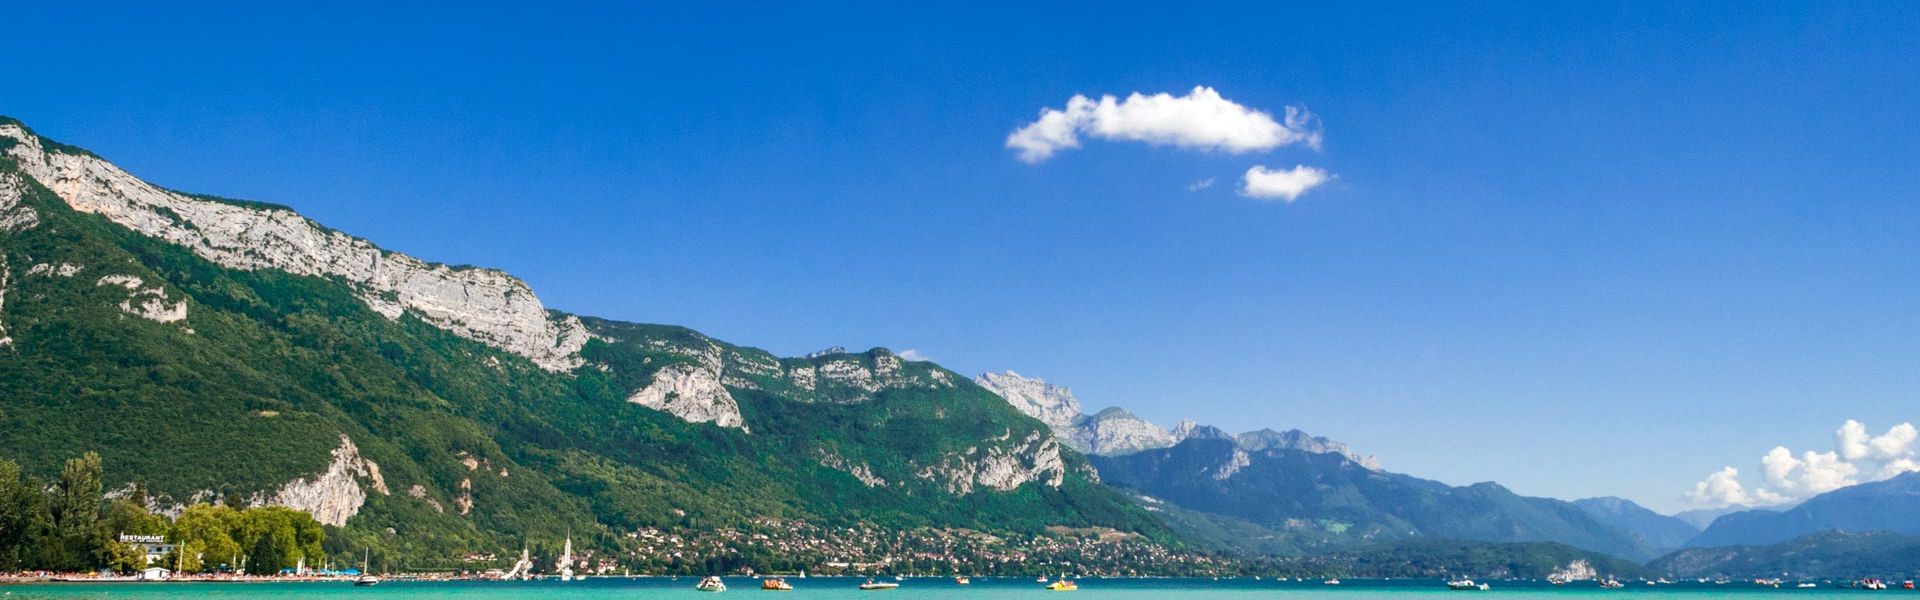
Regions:
M 1674 577 L 1912 577 L 1920 573 L 1920 537 L 1822 531 L 1766 546 L 1686 548 L 1647 567 Z

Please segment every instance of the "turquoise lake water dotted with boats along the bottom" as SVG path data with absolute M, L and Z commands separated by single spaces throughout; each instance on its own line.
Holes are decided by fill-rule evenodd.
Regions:
M 695 592 L 695 577 L 647 577 L 647 579 L 589 579 L 576 583 L 559 581 L 447 581 L 447 583 L 405 583 L 388 581 L 378 587 L 353 587 L 348 583 L 54 583 L 54 585 L 0 585 L 0 600 L 83 600 L 83 598 L 503 598 L 503 600 L 603 600 L 603 598 L 714 598 L 716 594 Z M 766 596 L 766 598 L 912 598 L 912 600 L 983 600 L 983 598 L 1052 598 L 1062 592 L 1041 590 L 1033 579 L 973 579 L 970 587 L 958 587 L 950 579 L 906 579 L 899 590 L 860 592 L 854 590 L 862 579 L 814 577 L 789 579 L 793 592 L 762 592 L 758 581 L 749 577 L 730 577 L 728 592 L 718 598 Z M 1110 598 L 1110 600 L 1148 600 L 1148 598 L 1279 598 L 1279 600 L 1371 600 L 1428 596 L 1496 596 L 1503 600 L 1559 598 L 1586 600 L 1607 596 L 1630 596 L 1638 600 L 1676 598 L 1676 600 L 1824 600 L 1830 596 L 1874 594 L 1853 588 L 1837 588 L 1826 583 L 1820 588 L 1761 588 L 1751 583 L 1682 583 L 1682 585 L 1628 585 L 1619 590 L 1597 588 L 1592 583 L 1551 587 L 1532 581 L 1492 581 L 1490 592 L 1452 592 L 1438 579 L 1400 579 L 1400 581 L 1346 581 L 1340 587 L 1298 581 L 1210 581 L 1210 579 L 1081 579 L 1079 592 L 1066 592 L 1066 598 Z M 1885 590 L 1878 594 L 1914 596 L 1907 590 Z

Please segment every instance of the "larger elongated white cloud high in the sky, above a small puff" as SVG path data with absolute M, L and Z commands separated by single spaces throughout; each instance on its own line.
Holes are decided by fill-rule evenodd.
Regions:
M 1210 87 L 1187 96 L 1133 92 L 1092 100 L 1075 94 L 1066 108 L 1043 108 L 1041 117 L 1006 137 L 1020 160 L 1039 163 L 1060 150 L 1081 146 L 1081 135 L 1102 140 L 1148 142 L 1185 150 L 1256 152 L 1288 144 L 1319 148 L 1313 113 L 1288 106 L 1283 121 L 1271 113 L 1223 98 Z

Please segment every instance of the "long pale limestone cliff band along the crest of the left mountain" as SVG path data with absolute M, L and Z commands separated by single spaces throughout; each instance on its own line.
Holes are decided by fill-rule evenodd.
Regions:
M 457 269 L 386 252 L 284 208 L 171 192 L 96 156 L 50 150 L 21 125 L 0 123 L 0 138 L 12 140 L 0 146 L 10 146 L 6 156 L 27 177 L 79 212 L 190 248 L 225 267 L 340 277 L 388 319 L 411 312 L 459 337 L 524 356 L 543 369 L 566 371 L 580 363 L 578 352 L 588 340 L 580 319 L 549 313 L 526 283 L 507 273 Z M 0 225 L 31 223 L 31 215 L 10 208 L 6 188 L 8 185 L 0 185 Z M 13 190 L 12 196 L 17 200 L 19 192 Z M 148 302 L 131 306 L 131 312 L 173 313 L 163 300 L 156 310 Z

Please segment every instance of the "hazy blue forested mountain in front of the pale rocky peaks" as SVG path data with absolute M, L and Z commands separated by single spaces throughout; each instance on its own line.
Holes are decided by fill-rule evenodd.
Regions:
M 1565 542 L 1624 558 L 1655 554 L 1640 538 L 1569 502 L 1519 496 L 1494 483 L 1448 487 L 1371 469 L 1342 454 L 1246 450 L 1235 438 L 1188 437 L 1171 448 L 1094 456 L 1092 463 L 1106 483 L 1148 498 L 1142 506 L 1179 508 L 1181 517 L 1169 523 L 1190 537 L 1223 540 L 1236 550 L 1325 552 L 1428 537 Z M 1265 533 L 1248 531 L 1248 523 Z M 1202 527 L 1238 527 L 1242 535 L 1196 535 Z

